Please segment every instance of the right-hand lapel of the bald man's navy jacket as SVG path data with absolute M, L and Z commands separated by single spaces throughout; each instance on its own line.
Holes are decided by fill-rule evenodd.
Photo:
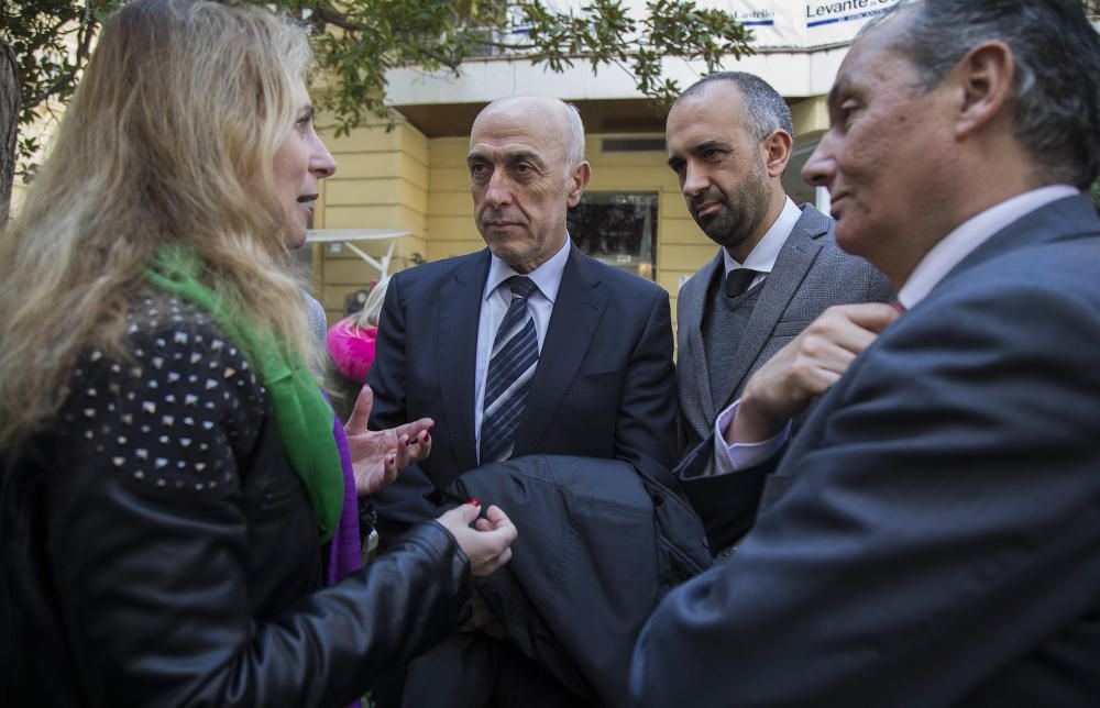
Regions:
M 539 366 L 516 431 L 515 457 L 536 451 L 562 397 L 576 378 L 607 307 L 607 296 L 598 291 L 598 284 L 588 267 L 587 256 L 571 245 L 539 354 Z

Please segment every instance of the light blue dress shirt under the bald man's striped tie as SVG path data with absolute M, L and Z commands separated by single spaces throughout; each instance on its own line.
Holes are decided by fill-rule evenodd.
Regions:
M 561 286 L 561 275 L 565 270 L 565 262 L 569 261 L 570 245 L 569 234 L 565 234 L 565 243 L 558 253 L 527 273 L 537 286 L 536 290 L 527 298 L 527 309 L 530 310 L 535 319 L 535 333 L 539 340 L 539 353 L 542 352 L 542 342 L 547 338 L 547 328 L 550 327 L 550 316 L 553 313 L 553 303 L 558 298 L 558 288 Z M 493 341 L 496 339 L 496 331 L 501 329 L 501 322 L 508 312 L 512 305 L 512 288 L 504 284 L 514 275 L 525 275 L 513 270 L 512 266 L 501 261 L 495 255 L 491 256 L 488 266 L 488 277 L 485 279 L 485 289 L 482 291 L 481 317 L 477 320 L 477 364 L 474 367 L 474 450 L 477 460 L 481 461 L 481 423 L 485 407 L 485 378 L 488 376 L 488 361 L 493 352 Z

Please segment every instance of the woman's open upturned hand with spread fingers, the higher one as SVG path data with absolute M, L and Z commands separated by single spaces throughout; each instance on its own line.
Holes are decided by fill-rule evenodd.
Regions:
M 355 473 L 355 495 L 365 497 L 387 486 L 397 478 L 397 473 L 413 462 L 431 454 L 431 435 L 436 424 L 430 418 L 421 418 L 397 428 L 373 431 L 366 429 L 374 407 L 374 392 L 364 386 L 355 400 L 351 418 L 344 423 L 348 450 L 351 452 L 352 469 Z

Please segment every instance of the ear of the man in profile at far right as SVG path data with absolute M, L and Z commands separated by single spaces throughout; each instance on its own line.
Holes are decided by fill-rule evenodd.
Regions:
M 963 57 L 955 73 L 960 98 L 955 134 L 961 139 L 1001 114 L 1012 98 L 1012 49 L 1003 42 L 982 42 Z

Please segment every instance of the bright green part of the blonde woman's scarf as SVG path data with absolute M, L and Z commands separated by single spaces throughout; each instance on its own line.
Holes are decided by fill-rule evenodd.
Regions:
M 201 308 L 241 347 L 267 389 L 283 452 L 306 485 L 320 524 L 321 543 L 328 543 L 344 501 L 340 451 L 332 436 L 332 407 L 301 359 L 287 359 L 277 335 L 257 335 L 234 303 L 199 281 L 204 267 L 202 259 L 187 246 L 165 245 L 145 269 L 145 279 Z

